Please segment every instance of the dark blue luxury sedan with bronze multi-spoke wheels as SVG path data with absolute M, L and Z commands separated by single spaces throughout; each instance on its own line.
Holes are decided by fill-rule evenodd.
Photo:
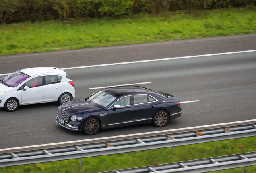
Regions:
M 180 117 L 177 97 L 139 86 L 111 87 L 58 107 L 56 123 L 94 135 L 99 129 L 153 123 L 163 127 Z

